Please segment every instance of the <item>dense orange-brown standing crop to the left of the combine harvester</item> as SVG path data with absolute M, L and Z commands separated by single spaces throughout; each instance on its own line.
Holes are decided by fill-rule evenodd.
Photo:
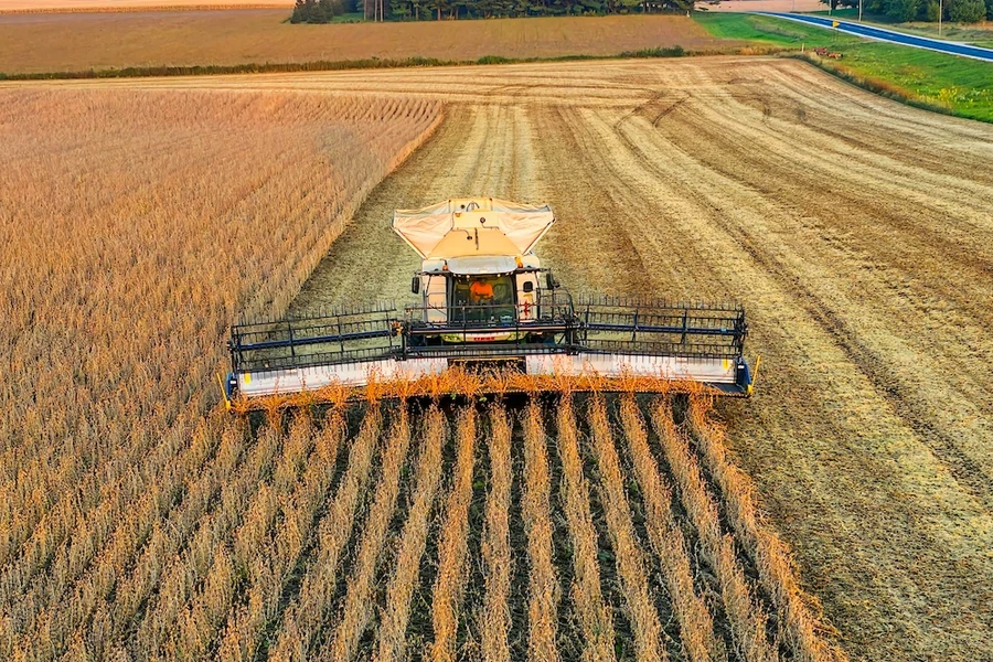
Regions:
M 299 463 L 311 441 L 211 431 L 221 335 L 241 310 L 286 309 L 439 114 L 292 93 L 0 92 L 0 658 L 178 638 L 200 656 L 233 576 L 293 567 L 292 533 L 273 542 L 284 566 L 259 568 L 255 542 L 277 506 L 306 535 L 324 477 Z M 257 596 L 233 630 L 279 597 Z

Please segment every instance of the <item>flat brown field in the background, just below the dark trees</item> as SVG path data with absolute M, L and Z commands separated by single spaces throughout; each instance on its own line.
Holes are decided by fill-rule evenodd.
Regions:
M 291 25 L 285 10 L 0 15 L 0 72 L 734 47 L 685 17 Z M 471 38 L 468 35 L 471 34 Z M 108 39 L 113 35 L 113 39 Z

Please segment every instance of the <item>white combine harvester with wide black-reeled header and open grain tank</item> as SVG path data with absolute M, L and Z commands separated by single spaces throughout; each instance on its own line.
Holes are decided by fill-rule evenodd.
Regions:
M 253 408 L 452 369 L 751 394 L 740 306 L 573 297 L 534 254 L 554 222 L 547 205 L 491 197 L 398 210 L 393 229 L 423 258 L 410 287 L 419 302 L 232 327 L 225 401 Z

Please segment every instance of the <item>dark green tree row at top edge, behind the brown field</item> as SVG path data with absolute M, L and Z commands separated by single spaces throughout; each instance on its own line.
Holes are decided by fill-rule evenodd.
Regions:
M 685 12 L 692 8 L 693 0 L 297 0 L 290 22 L 330 23 L 350 13 L 362 13 L 367 20 L 440 21 Z

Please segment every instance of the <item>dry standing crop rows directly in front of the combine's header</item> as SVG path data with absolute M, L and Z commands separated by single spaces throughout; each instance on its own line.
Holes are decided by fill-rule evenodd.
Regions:
M 149 618 L 174 626 L 122 645 L 139 656 L 334 661 L 841 659 L 819 637 L 792 637 L 777 596 L 815 616 L 796 577 L 765 577 L 750 538 L 718 521 L 750 484 L 725 493 L 701 472 L 712 461 L 735 470 L 708 401 L 524 399 L 448 414 L 437 402 L 370 401 L 213 429 L 248 449 L 242 471 L 268 478 L 239 514 L 233 551 L 222 537 L 186 562 L 204 579 L 184 604 L 151 596 Z M 517 509 L 523 535 L 511 532 Z M 474 545 L 480 516 L 487 543 Z M 778 544 L 764 524 L 751 534 Z M 718 563 L 692 553 L 707 536 L 735 551 Z M 729 580 L 741 584 L 741 613 L 714 598 Z

